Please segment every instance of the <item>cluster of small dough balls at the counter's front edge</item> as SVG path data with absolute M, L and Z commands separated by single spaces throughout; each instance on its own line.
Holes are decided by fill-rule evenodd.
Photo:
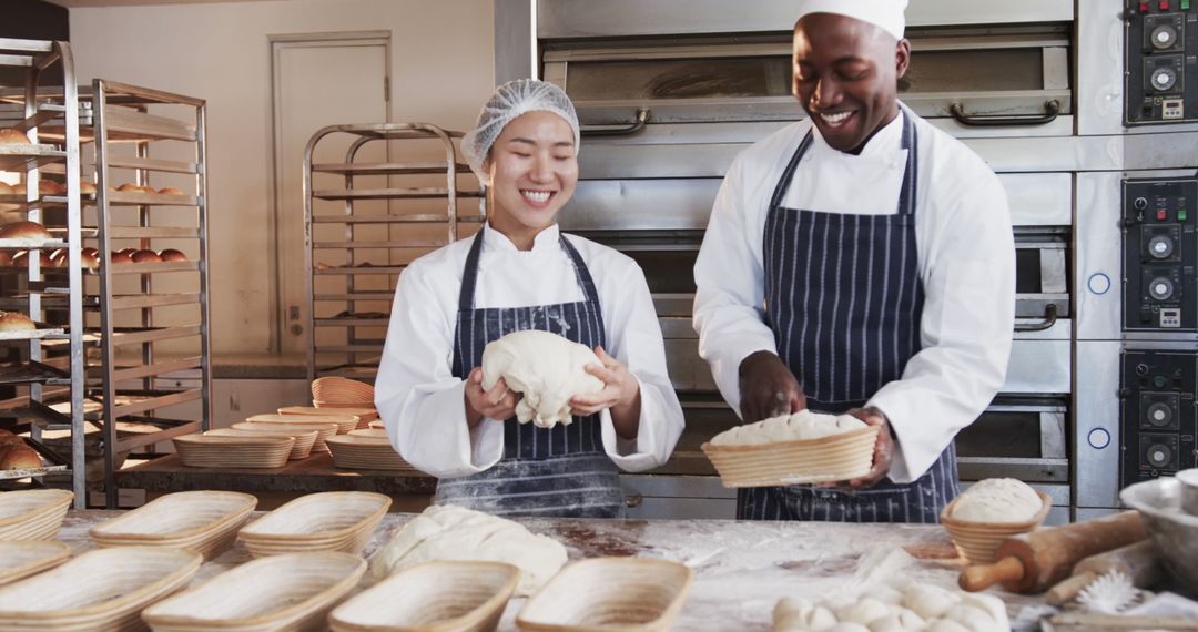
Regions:
M 774 607 L 775 632 L 1008 632 L 1006 606 L 993 595 L 934 584 L 883 587 L 873 596 L 821 603 L 786 597 Z

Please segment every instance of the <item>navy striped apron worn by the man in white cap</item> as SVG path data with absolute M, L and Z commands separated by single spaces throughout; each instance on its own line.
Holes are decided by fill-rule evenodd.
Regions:
M 764 231 L 766 316 L 779 357 L 794 373 L 811 411 L 864 406 L 920 350 L 924 287 L 915 242 L 915 126 L 903 113 L 907 166 L 898 212 L 890 215 L 786 208 L 811 132 L 786 165 L 769 202 Z M 956 449 L 949 445 L 912 484 L 889 479 L 869 490 L 807 486 L 737 492 L 742 519 L 936 523 L 958 493 Z

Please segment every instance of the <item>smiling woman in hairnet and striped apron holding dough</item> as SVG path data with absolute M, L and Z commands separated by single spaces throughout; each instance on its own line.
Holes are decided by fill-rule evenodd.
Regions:
M 668 458 L 683 429 L 645 274 L 553 223 L 579 181 L 579 121 L 558 87 L 500 86 L 462 139 L 488 186 L 488 223 L 400 276 L 375 403 L 392 444 L 440 476 L 437 503 L 496 515 L 621 517 L 618 470 Z M 483 390 L 483 347 L 541 329 L 595 348 L 606 387 L 571 400 L 574 423 L 519 424 L 502 379 Z

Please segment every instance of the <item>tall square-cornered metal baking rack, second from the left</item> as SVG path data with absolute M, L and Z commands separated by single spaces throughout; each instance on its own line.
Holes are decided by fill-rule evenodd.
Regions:
M 163 114 L 163 110 L 169 110 Z M 99 250 L 98 311 L 95 332 L 101 366 L 89 375 L 102 384 L 102 411 L 85 414 L 103 429 L 104 492 L 116 503 L 114 474 L 119 456 L 180 434 L 207 430 L 211 414 L 211 339 L 208 310 L 206 103 L 104 79 L 91 91 L 96 151 L 96 248 Z M 151 157 L 151 147 L 169 141 L 174 158 Z M 186 159 L 179 159 L 179 147 Z M 121 153 L 117 146 L 135 151 Z M 114 171 L 132 174 L 149 186 L 152 175 L 174 174 L 186 181 L 182 194 L 117 192 Z M 180 178 L 179 175 L 183 177 Z M 113 265 L 114 249 L 135 243 L 150 249 L 168 239 L 188 250 L 177 262 Z M 133 287 L 135 285 L 135 287 Z M 189 290 L 181 291 L 181 286 Z M 192 309 L 182 309 L 190 306 Z M 162 309 L 171 314 L 162 316 Z M 186 315 L 180 315 L 186 311 Z M 158 344 L 173 345 L 163 353 Z M 180 352 L 180 347 L 187 347 Z M 133 353 L 129 353 L 133 350 Z M 137 356 L 135 361 L 129 361 Z M 184 384 L 170 387 L 170 382 Z M 176 419 L 164 411 L 199 402 L 199 414 Z M 150 424 L 159 430 L 122 436 L 117 423 Z

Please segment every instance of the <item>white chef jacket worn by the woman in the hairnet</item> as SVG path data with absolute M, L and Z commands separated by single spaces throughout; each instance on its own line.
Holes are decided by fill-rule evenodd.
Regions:
M 552 225 L 520 251 L 503 233 L 483 227 L 474 308 L 518 308 L 583 300 L 574 266 Z M 603 309 L 604 350 L 628 366 L 641 387 L 635 439 L 616 434 L 600 413 L 604 450 L 627 472 L 661 466 L 683 430 L 682 406 L 666 375 L 665 346 L 645 273 L 630 257 L 568 235 L 594 279 Z M 503 425 L 466 424 L 465 382 L 454 377 L 453 335 L 462 271 L 473 237 L 413 261 L 400 275 L 375 381 L 375 406 L 392 445 L 406 461 L 438 478 L 483 472 L 503 457 Z M 512 421 L 515 423 L 515 421 Z

